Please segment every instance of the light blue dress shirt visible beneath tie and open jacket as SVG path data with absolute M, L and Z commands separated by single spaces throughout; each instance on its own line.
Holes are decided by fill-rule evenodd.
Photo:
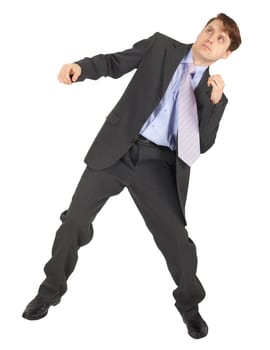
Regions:
M 192 50 L 190 49 L 175 70 L 170 84 L 158 106 L 148 117 L 140 130 L 140 134 L 150 141 L 158 145 L 170 147 L 173 151 L 176 149 L 178 129 L 179 82 L 183 74 L 184 63 L 190 63 L 192 61 Z M 193 90 L 199 84 L 207 67 L 194 66 L 194 68 L 195 73 L 191 80 Z

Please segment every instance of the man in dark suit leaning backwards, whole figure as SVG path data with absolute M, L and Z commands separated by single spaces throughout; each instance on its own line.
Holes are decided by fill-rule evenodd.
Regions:
M 177 284 L 175 306 L 189 335 L 207 335 L 198 309 L 205 291 L 185 228 L 185 203 L 191 165 L 215 142 L 227 104 L 221 76 L 210 77 L 208 67 L 240 44 L 237 24 L 219 14 L 193 44 L 156 32 L 131 49 L 62 67 L 58 79 L 64 84 L 137 70 L 84 159 L 86 169 L 60 216 L 46 279 L 23 317 L 40 319 L 60 302 L 78 249 L 93 237 L 94 218 L 109 197 L 127 187 Z

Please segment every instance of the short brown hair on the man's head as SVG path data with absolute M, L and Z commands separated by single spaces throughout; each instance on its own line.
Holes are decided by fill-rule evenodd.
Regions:
M 240 30 L 236 22 L 229 16 L 225 15 L 225 13 L 219 13 L 216 17 L 211 18 L 206 23 L 206 26 L 208 26 L 208 24 L 214 21 L 215 19 L 219 19 L 223 22 L 224 29 L 228 33 L 229 38 L 231 39 L 231 44 L 228 47 L 228 51 L 234 51 L 238 49 L 242 40 L 241 40 Z

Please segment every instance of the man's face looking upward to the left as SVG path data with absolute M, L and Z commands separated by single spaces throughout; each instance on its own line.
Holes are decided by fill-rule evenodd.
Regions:
M 231 39 L 224 31 L 222 21 L 215 19 L 198 35 L 192 46 L 193 55 L 203 62 L 203 65 L 210 65 L 230 55 L 231 51 L 228 51 L 230 43 Z

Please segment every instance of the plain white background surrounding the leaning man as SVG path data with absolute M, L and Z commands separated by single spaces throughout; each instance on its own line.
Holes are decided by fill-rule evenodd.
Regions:
M 1 343 L 3 349 L 269 348 L 269 77 L 265 1 L 9 1 L 1 9 Z M 135 71 L 65 86 L 64 63 L 112 53 L 159 31 L 192 42 L 219 12 L 243 44 L 211 67 L 229 104 L 216 143 L 191 171 L 188 232 L 209 326 L 194 340 L 176 287 L 125 189 L 94 220 L 94 238 L 61 303 L 21 317 L 43 281 L 59 215 L 83 158 Z M 258 71 L 257 71 L 258 69 Z M 124 215 L 123 215 L 124 213 Z M 260 343 L 260 344 L 258 344 Z

